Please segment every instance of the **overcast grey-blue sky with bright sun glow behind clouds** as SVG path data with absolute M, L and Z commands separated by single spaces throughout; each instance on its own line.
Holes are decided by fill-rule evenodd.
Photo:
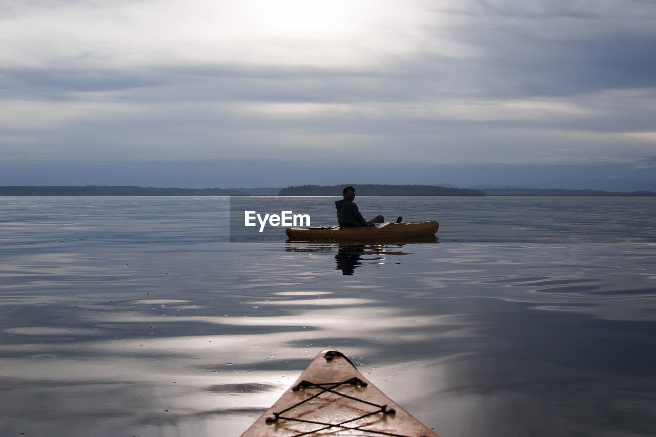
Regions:
M 652 0 L 2 0 L 0 185 L 656 190 Z

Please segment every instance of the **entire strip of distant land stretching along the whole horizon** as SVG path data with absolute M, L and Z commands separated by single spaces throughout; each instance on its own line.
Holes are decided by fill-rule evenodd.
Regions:
M 342 185 L 260 188 L 176 188 L 142 186 L 0 186 L 0 196 L 341 196 Z M 610 192 L 565 188 L 453 188 L 432 185 L 356 185 L 358 196 L 632 196 L 656 192 Z

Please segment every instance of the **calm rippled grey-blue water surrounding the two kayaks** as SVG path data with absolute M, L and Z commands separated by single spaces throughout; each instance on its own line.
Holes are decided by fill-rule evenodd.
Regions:
M 0 198 L 1 436 L 239 436 L 325 348 L 442 437 L 653 436 L 656 198 L 356 198 L 438 241 L 230 242 L 256 202 Z

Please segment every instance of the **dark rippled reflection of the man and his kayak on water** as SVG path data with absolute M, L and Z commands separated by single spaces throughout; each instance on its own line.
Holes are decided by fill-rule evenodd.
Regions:
M 287 240 L 288 252 L 335 253 L 335 270 L 344 275 L 354 274 L 356 268 L 364 264 L 387 264 L 388 257 L 410 255 L 411 252 L 399 250 L 403 245 L 416 243 L 439 243 L 435 236 L 426 238 L 385 241 L 384 244 L 362 243 L 311 243 Z

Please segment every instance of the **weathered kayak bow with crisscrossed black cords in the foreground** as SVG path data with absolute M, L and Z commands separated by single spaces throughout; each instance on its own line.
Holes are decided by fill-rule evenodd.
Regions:
M 369 383 L 344 354 L 324 350 L 241 437 L 438 437 Z

